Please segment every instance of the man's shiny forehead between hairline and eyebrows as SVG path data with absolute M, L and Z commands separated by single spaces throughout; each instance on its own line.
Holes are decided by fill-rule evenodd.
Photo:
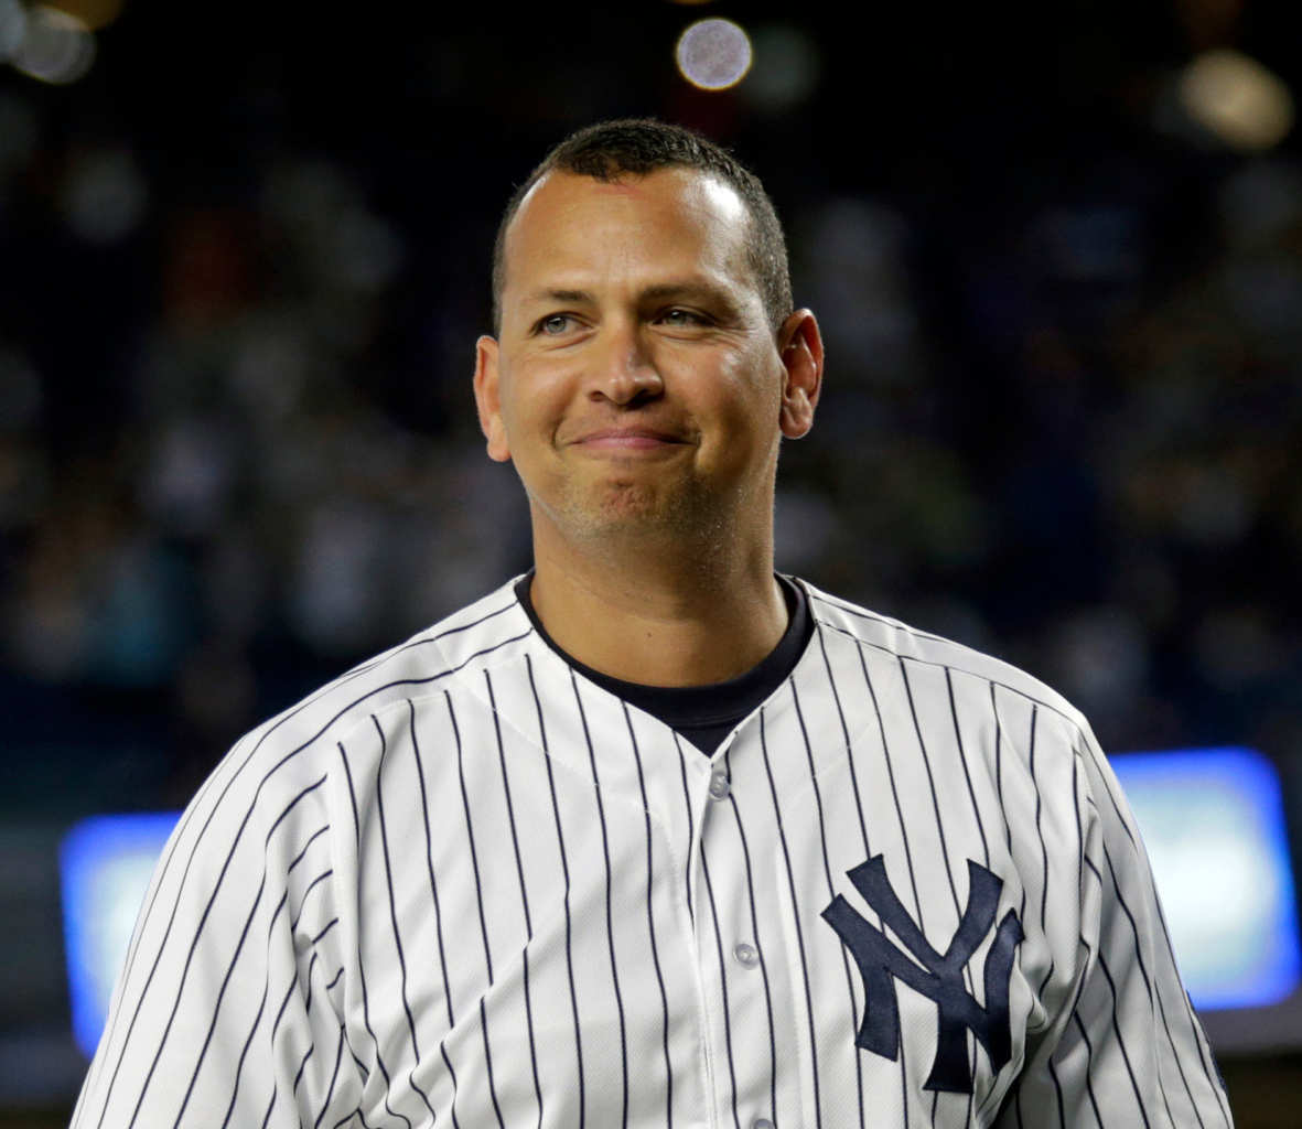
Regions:
M 539 272 L 655 271 L 673 260 L 745 271 L 749 212 L 737 191 L 697 169 L 598 181 L 553 171 L 521 202 L 504 246 L 506 285 Z

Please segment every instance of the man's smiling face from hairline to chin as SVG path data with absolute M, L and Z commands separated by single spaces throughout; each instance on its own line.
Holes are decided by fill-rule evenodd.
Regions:
M 809 423 L 788 426 L 749 225 L 730 188 L 689 169 L 612 184 L 553 172 L 526 197 L 475 395 L 535 523 L 684 535 L 723 533 L 729 510 L 771 514 L 781 431 Z

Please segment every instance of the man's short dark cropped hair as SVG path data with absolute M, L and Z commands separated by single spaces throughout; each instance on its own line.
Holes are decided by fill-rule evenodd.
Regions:
M 501 293 L 506 284 L 506 229 L 529 190 L 549 172 L 590 176 L 613 181 L 621 176 L 646 176 L 663 168 L 698 169 L 732 188 L 750 212 L 746 263 L 754 272 L 764 300 L 764 311 L 776 333 L 792 313 L 792 279 L 786 240 L 773 202 L 750 169 L 730 152 L 681 125 L 655 118 L 602 121 L 572 133 L 543 158 L 516 189 L 497 227 L 492 260 L 493 327 L 501 331 Z

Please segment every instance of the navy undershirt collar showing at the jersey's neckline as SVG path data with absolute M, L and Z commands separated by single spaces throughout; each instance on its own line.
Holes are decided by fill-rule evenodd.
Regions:
M 534 629 L 557 655 L 589 681 L 596 682 L 630 706 L 637 706 L 652 718 L 659 718 L 681 737 L 690 741 L 707 757 L 712 757 L 724 738 L 737 728 L 737 724 L 755 711 L 773 693 L 805 654 L 805 647 L 814 634 L 814 619 L 809 612 L 805 591 L 781 573 L 775 573 L 783 595 L 786 598 L 788 624 L 777 646 L 745 675 L 729 678 L 727 682 L 711 682 L 706 686 L 646 686 L 641 682 L 625 682 L 612 678 L 600 671 L 583 665 L 570 658 L 552 641 L 547 629 L 534 611 L 529 598 L 529 585 L 534 578 L 530 569 L 516 583 L 516 599 L 519 600 Z

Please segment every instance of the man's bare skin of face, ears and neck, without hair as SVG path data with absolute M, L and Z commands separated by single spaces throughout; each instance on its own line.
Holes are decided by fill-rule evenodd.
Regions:
M 720 682 L 786 626 L 773 479 L 783 435 L 812 423 L 823 346 L 785 268 L 763 277 L 785 259 L 764 206 L 756 254 L 758 224 L 716 176 L 557 168 L 503 229 L 480 423 L 529 491 L 539 617 L 620 678 Z

